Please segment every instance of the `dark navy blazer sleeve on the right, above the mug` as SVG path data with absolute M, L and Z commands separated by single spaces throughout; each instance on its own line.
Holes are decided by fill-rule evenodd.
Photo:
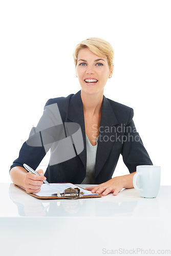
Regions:
M 123 162 L 129 169 L 130 173 L 136 172 L 137 165 L 153 165 L 136 130 L 133 116 L 134 111 L 131 109 L 130 118 L 125 126 L 125 132 L 122 138 L 123 146 L 121 152 Z

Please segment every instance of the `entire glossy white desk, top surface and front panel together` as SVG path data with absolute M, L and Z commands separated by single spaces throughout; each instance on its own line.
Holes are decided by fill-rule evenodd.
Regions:
M 39 200 L 0 183 L 0 197 L 2 256 L 171 254 L 171 186 L 153 199 L 124 189 L 116 197 Z

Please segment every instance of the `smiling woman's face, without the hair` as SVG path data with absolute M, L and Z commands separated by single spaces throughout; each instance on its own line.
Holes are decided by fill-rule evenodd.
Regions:
M 106 81 L 111 74 L 106 57 L 99 57 L 88 48 L 78 52 L 76 75 L 81 89 L 88 94 L 103 93 Z

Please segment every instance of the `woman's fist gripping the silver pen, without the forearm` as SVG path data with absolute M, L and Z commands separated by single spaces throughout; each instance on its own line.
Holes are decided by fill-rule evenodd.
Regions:
M 25 177 L 25 188 L 27 193 L 38 193 L 43 184 L 43 180 L 46 180 L 42 169 L 36 171 L 39 175 L 27 173 Z

